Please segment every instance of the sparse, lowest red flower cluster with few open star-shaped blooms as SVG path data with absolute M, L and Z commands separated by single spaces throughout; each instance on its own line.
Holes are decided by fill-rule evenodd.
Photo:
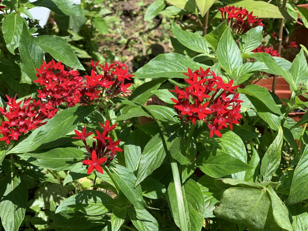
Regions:
M 95 130 L 96 136 L 94 136 L 93 139 L 96 139 L 96 141 L 93 141 L 92 147 L 87 145 L 86 137 L 93 134 L 93 132 L 87 133 L 86 127 L 83 127 L 82 132 L 75 130 L 77 136 L 73 137 L 75 139 L 82 140 L 88 151 L 86 160 L 81 161 L 85 165 L 90 165 L 87 174 L 93 172 L 94 169 L 103 174 L 103 168 L 101 164 L 109 164 L 115 157 L 116 152 L 123 152 L 121 148 L 117 147 L 121 140 L 113 142 L 111 137 L 108 137 L 108 133 L 115 129 L 116 124 L 110 127 L 108 120 L 106 120 L 105 125 L 101 123 L 99 124 L 103 127 L 103 132 L 100 133 L 99 131 Z

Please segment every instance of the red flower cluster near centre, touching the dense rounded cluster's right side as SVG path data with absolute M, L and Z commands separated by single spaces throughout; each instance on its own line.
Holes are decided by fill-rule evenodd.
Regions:
M 98 62 L 93 62 L 88 64 L 92 67 L 91 76 L 85 75 L 86 78 L 85 86 L 80 87 L 79 91 L 82 95 L 82 103 L 99 103 L 100 99 L 108 101 L 109 98 L 112 98 L 115 95 L 120 94 L 121 92 L 131 92 L 127 88 L 132 85 L 132 83 L 124 84 L 124 79 L 130 80 L 129 77 L 134 75 L 129 75 L 128 67 L 126 64 L 112 61 L 113 63 L 108 65 L 100 65 Z M 96 70 L 96 67 L 102 68 L 102 73 L 99 74 Z M 113 80 L 115 78 L 115 80 Z

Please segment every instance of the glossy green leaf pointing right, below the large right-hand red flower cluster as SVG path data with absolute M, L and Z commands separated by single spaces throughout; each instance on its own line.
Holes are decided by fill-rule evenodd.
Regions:
M 253 168 L 237 157 L 220 151 L 219 149 L 217 151 L 208 150 L 201 152 L 196 162 L 197 167 L 200 168 L 202 172 L 214 178 L 220 178 Z

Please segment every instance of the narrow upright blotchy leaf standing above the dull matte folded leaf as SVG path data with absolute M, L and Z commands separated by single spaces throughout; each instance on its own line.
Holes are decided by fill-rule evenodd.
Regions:
M 272 179 L 273 174 L 279 167 L 281 160 L 281 147 L 283 140 L 282 138 L 283 138 L 282 128 L 279 127 L 276 138 L 265 152 L 265 155 L 261 162 L 260 172 L 261 175 L 263 176 L 263 181 L 270 181 Z

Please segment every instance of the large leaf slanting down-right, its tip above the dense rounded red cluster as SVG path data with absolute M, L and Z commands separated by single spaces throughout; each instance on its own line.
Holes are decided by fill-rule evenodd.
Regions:
M 42 35 L 34 41 L 42 48 L 44 53 L 49 53 L 56 60 L 69 67 L 85 70 L 70 45 L 64 39 L 55 35 Z

